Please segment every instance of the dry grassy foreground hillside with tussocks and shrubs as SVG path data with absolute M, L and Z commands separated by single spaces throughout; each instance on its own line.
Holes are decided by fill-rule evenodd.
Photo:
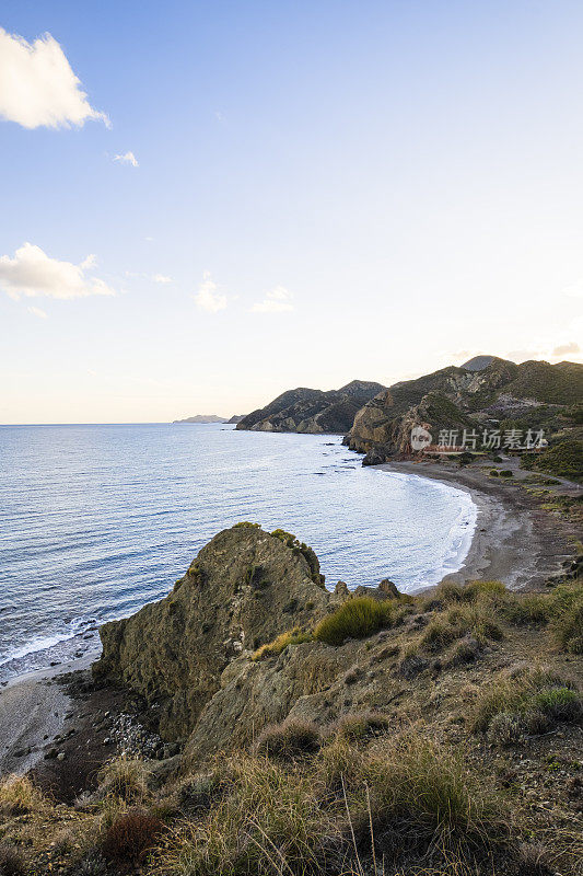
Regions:
M 308 721 L 300 700 L 165 781 L 117 759 L 74 807 L 5 777 L 0 873 L 576 876 L 582 621 L 576 577 L 540 593 L 475 581 L 348 598 L 255 655 L 269 669 L 314 639 L 333 659 L 350 648 L 336 721 Z M 365 676 L 400 679 L 383 712 L 358 706 Z

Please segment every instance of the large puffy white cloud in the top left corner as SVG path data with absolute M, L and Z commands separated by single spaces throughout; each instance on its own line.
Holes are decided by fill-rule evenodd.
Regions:
M 50 34 L 27 43 L 0 27 L 0 117 L 24 128 L 81 126 L 101 119 Z

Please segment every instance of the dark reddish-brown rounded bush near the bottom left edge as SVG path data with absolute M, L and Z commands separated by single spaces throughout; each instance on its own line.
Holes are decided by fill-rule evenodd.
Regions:
M 160 818 L 141 809 L 129 811 L 107 829 L 101 851 L 119 873 L 130 873 L 144 863 L 163 831 Z

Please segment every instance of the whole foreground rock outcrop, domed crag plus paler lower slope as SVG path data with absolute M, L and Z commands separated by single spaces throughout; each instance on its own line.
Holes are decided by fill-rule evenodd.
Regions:
M 170 596 L 101 629 L 103 655 L 93 672 L 140 694 L 160 735 L 185 742 L 187 760 L 198 760 L 246 745 L 288 715 L 335 719 L 353 699 L 349 672 L 359 681 L 359 705 L 382 705 L 392 684 L 369 684 L 357 665 L 383 650 L 384 633 L 371 653 L 363 641 L 330 647 L 305 636 L 254 659 L 260 645 L 287 631 L 308 633 L 326 612 L 364 595 L 399 598 L 388 579 L 354 593 L 340 581 L 329 592 L 305 544 L 282 530 L 238 525 L 200 551 Z

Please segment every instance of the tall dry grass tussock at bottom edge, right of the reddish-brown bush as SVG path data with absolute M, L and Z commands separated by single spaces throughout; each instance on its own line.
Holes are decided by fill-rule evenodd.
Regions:
M 293 769 L 293 768 L 292 768 Z M 224 796 L 187 821 L 159 858 L 164 876 L 340 873 L 346 840 L 312 774 L 240 754 L 223 764 Z

